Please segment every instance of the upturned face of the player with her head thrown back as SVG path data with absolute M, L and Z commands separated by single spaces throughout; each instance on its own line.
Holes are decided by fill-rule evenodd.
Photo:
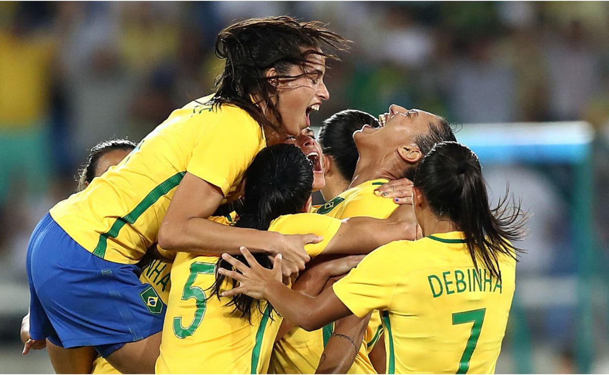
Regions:
M 353 139 L 357 150 L 361 148 L 387 148 L 401 145 L 416 146 L 415 137 L 429 131 L 429 123 L 437 123 L 440 119 L 421 109 L 406 109 L 391 105 L 389 113 L 385 114 L 385 126 L 372 128 L 364 125 L 361 130 L 354 132 Z

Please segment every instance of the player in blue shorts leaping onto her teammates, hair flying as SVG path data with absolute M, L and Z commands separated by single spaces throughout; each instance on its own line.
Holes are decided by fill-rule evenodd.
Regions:
M 163 314 L 144 298 L 134 264 L 153 243 L 217 253 L 247 244 L 282 253 L 286 274 L 302 269 L 309 259 L 303 244 L 317 236 L 206 218 L 238 187 L 259 150 L 309 126 L 309 112 L 329 98 L 322 47 L 343 42 L 317 22 L 289 17 L 250 19 L 220 32 L 216 53 L 225 67 L 216 94 L 172 112 L 116 168 L 55 205 L 32 233 L 32 338 L 80 346 L 80 358 L 92 357 L 93 347 L 124 373 L 150 373 Z M 86 370 L 71 363 L 74 372 Z

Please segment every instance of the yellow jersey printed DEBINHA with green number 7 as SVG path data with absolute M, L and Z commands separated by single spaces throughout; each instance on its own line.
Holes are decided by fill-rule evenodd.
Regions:
M 500 283 L 476 270 L 463 238 L 449 232 L 395 241 L 334 283 L 357 316 L 383 311 L 388 373 L 495 372 L 516 261 L 499 257 Z

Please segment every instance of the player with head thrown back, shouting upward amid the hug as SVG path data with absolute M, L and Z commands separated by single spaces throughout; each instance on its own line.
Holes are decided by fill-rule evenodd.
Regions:
M 403 176 L 412 179 L 421 158 L 435 143 L 455 140 L 448 122 L 429 112 L 392 105 L 386 116 L 385 126 L 375 129 L 366 125 L 353 134 L 353 139 L 359 159 L 350 188 L 326 202 L 317 213 L 337 219 L 357 216 L 387 219 L 398 214 L 403 221 L 415 222 L 410 205 L 398 208 L 397 204 L 384 198 L 384 194 L 376 195 L 375 191 L 377 187 L 385 188 L 385 185 L 392 184 Z M 392 185 L 392 188 L 394 187 L 395 185 Z M 399 191 L 399 188 L 395 191 Z M 412 195 L 412 192 L 410 194 Z M 408 238 L 417 238 L 416 233 L 410 233 Z M 297 284 L 294 289 L 298 289 Z M 309 291 L 306 293 L 314 295 Z M 368 320 L 368 317 L 357 320 L 356 317 L 350 316 L 315 332 L 293 329 L 276 345 L 271 361 L 273 370 L 276 373 L 312 373 L 315 368 L 320 369 L 319 366 L 323 365 L 320 370 L 329 371 L 335 367 L 337 359 L 342 361 L 342 365 L 350 365 L 348 356 L 354 354 L 353 365 L 350 368 L 340 368 L 339 372 L 372 372 L 368 347 L 371 348 L 375 337 L 380 335 L 376 334 L 381 326 L 378 312 L 373 312 L 370 317 L 365 332 L 365 344 L 358 346 L 358 351 L 353 353 L 348 343 L 348 339 L 358 341 L 354 323 L 365 326 L 364 320 Z M 337 353 L 341 355 L 336 356 Z M 350 358 L 353 361 L 353 357 Z M 328 363 L 332 359 L 334 363 Z M 382 362 L 385 361 L 381 358 Z M 381 368 L 379 362 L 375 364 L 376 368 Z

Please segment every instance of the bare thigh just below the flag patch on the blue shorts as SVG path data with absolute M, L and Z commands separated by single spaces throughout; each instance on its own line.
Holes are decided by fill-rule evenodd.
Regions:
M 153 374 L 159 356 L 161 333 L 150 335 L 144 340 L 126 343 L 106 359 L 123 374 Z

